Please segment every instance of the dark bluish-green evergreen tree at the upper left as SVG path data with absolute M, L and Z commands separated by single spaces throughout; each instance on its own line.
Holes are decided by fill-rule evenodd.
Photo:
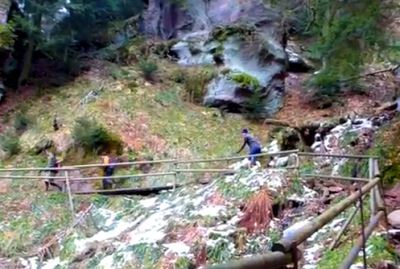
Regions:
M 108 24 L 138 14 L 144 3 L 142 0 L 25 0 L 20 6 L 21 15 L 12 20 L 24 39 L 18 86 L 29 76 L 35 50 L 68 64 L 82 49 L 107 45 L 104 36 Z M 62 19 L 57 18 L 60 13 L 64 14 Z M 46 29 L 53 22 L 55 27 Z

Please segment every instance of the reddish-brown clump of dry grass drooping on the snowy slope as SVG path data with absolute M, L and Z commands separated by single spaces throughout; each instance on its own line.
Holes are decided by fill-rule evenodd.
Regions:
M 265 231 L 272 218 L 272 199 L 267 189 L 261 189 L 255 193 L 246 203 L 244 215 L 239 225 L 248 233 L 260 233 Z

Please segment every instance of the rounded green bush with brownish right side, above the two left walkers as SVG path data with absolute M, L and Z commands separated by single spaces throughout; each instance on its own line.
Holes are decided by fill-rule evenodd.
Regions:
M 73 138 L 77 146 L 82 147 L 86 152 L 121 152 L 122 142 L 105 127 L 93 119 L 81 117 L 76 120 L 73 129 Z

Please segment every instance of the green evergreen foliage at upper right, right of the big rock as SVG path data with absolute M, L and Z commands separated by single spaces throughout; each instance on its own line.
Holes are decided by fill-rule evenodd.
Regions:
M 314 0 L 311 32 L 312 47 L 321 59 L 322 70 L 312 83 L 335 88 L 342 80 L 360 74 L 370 55 L 384 49 L 384 2 L 381 0 Z

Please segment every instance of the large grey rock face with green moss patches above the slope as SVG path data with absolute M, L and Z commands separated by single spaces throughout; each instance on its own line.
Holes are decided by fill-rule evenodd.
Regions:
M 262 116 L 282 105 L 286 40 L 277 9 L 261 0 L 149 1 L 147 34 L 179 40 L 182 65 L 215 64 L 204 104 Z

